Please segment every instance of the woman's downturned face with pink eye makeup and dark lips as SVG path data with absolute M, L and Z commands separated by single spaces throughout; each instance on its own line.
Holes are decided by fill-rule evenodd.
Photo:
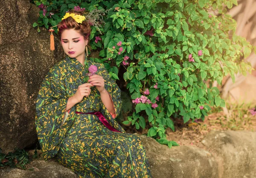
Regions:
M 83 60 L 87 43 L 88 40 L 75 29 L 66 29 L 61 34 L 61 45 L 65 54 L 79 61 Z

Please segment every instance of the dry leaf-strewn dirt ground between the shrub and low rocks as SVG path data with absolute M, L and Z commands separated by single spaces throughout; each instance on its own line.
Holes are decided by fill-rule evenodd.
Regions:
M 253 116 L 248 111 L 243 116 L 237 118 L 227 118 L 223 111 L 212 113 L 204 121 L 198 120 L 194 123 L 189 121 L 183 123 L 182 120 L 176 120 L 175 132 L 167 129 L 167 140 L 176 141 L 180 146 L 189 145 L 198 148 L 204 148 L 201 143 L 205 135 L 212 130 L 248 130 L 256 132 L 256 115 Z

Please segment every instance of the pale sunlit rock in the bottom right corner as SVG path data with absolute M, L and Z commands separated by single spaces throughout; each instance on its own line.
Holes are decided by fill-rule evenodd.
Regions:
M 256 132 L 210 132 L 202 143 L 214 151 L 220 178 L 256 178 Z

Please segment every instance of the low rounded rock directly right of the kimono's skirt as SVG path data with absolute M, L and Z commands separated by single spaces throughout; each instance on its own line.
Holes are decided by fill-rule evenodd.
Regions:
M 193 146 L 169 149 L 153 138 L 140 137 L 153 178 L 218 178 L 218 164 L 210 152 Z

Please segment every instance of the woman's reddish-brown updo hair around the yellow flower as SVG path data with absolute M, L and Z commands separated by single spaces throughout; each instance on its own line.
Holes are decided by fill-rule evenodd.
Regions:
M 68 12 L 70 14 L 74 13 L 74 14 L 83 15 L 82 11 L 70 10 Z M 87 20 L 82 21 L 82 23 L 77 23 L 76 20 L 74 20 L 72 17 L 67 17 L 66 19 L 61 20 L 61 22 L 58 24 L 58 35 L 59 35 L 60 42 L 61 42 L 61 34 L 66 29 L 77 30 L 81 35 L 84 36 L 84 39 L 88 39 L 87 46 L 89 46 L 91 29 Z

